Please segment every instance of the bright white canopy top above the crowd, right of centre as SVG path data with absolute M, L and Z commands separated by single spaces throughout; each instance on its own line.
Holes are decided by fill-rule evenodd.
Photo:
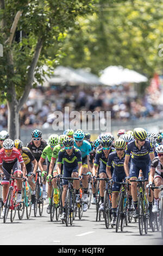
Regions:
M 108 86 L 115 86 L 123 83 L 147 82 L 148 78 L 134 70 L 124 69 L 122 66 L 108 66 L 102 71 L 99 81 Z

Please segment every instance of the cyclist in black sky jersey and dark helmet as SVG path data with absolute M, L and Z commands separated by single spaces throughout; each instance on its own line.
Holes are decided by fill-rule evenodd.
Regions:
M 40 157 L 42 155 L 43 149 L 47 146 L 47 143 L 44 139 L 42 139 L 42 132 L 40 130 L 34 130 L 32 132 L 32 139 L 31 141 L 27 144 L 27 148 L 30 149 L 32 154 L 34 155 L 37 163 L 39 163 Z M 46 171 L 47 168 L 47 162 L 43 162 L 43 170 Z M 42 198 L 46 199 L 47 198 L 47 193 L 46 193 L 46 184 L 42 184 L 43 191 L 42 191 Z

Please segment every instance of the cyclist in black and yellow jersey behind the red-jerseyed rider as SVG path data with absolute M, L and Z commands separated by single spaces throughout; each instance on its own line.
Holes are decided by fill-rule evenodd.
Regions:
M 26 164 L 28 183 L 31 188 L 32 210 L 34 210 L 36 186 L 35 186 L 35 182 L 33 182 L 33 178 L 36 175 L 37 161 L 35 160 L 31 151 L 28 148 L 23 147 L 23 143 L 20 141 L 20 139 L 15 139 L 14 147 L 17 148 L 18 151 L 20 151 L 20 154 L 22 155 L 22 159 L 23 159 L 24 163 Z

